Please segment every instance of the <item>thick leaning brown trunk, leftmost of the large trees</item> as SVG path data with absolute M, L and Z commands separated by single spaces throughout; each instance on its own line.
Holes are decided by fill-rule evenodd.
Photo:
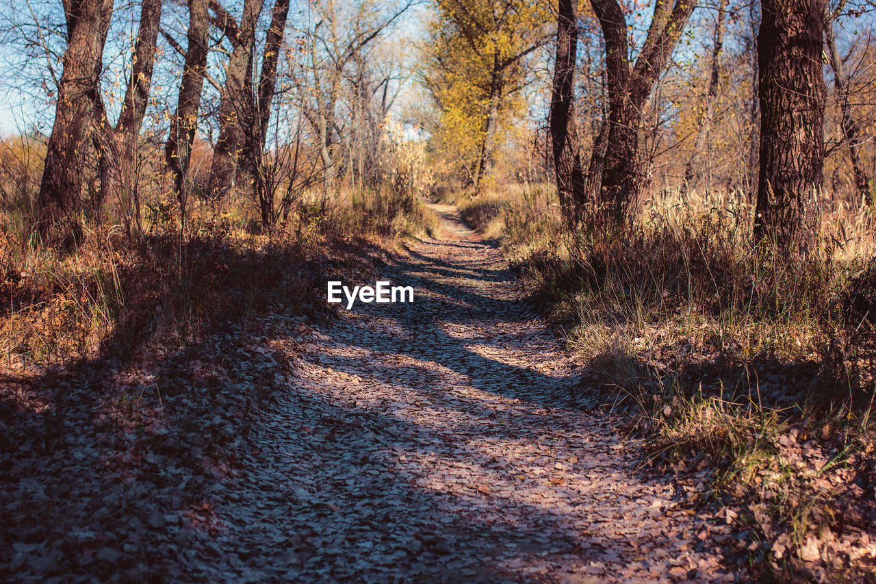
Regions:
M 82 161 L 95 132 L 103 46 L 112 0 L 67 0 L 67 50 L 39 185 L 37 229 L 49 242 L 81 237 Z

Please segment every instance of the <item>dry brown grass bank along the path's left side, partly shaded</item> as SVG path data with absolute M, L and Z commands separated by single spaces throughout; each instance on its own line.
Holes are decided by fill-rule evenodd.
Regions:
M 183 241 L 168 206 L 147 211 L 142 238 L 92 223 L 70 252 L 39 245 L 18 217 L 0 222 L 0 364 L 42 367 L 185 344 L 259 311 L 318 314 L 324 272 L 365 269 L 380 246 L 436 219 L 412 192 L 385 189 L 311 196 L 261 232 L 231 200 L 193 205 Z

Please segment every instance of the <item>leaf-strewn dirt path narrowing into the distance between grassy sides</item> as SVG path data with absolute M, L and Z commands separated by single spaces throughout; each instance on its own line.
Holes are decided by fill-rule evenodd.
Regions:
M 290 358 L 296 378 L 217 495 L 212 581 L 734 580 L 639 443 L 569 405 L 574 365 L 498 250 L 449 206 L 442 239 L 380 274 L 413 304 L 358 304 Z M 345 282 L 367 284 L 369 282 Z M 371 282 L 373 284 L 373 282 Z

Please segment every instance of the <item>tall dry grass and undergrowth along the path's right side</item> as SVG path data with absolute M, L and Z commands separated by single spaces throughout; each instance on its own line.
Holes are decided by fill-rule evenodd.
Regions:
M 740 552 L 766 573 L 876 577 L 876 550 L 858 543 L 876 519 L 868 211 L 825 202 L 801 259 L 752 250 L 752 204 L 727 194 L 663 192 L 613 240 L 563 232 L 549 205 L 507 189 L 463 208 L 523 260 L 585 385 L 631 413 L 648 459 L 705 470 L 699 491 L 752 509 Z

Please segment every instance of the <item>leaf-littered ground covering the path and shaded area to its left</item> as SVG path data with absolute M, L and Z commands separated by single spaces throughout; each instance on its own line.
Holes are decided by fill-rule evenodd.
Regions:
M 32 424 L 42 441 L 0 459 L 0 575 L 752 580 L 724 553 L 731 525 L 640 467 L 643 441 L 588 407 L 580 364 L 498 248 L 432 207 L 440 237 L 374 274 L 413 286 L 413 303 L 272 321 L 112 374 L 177 414 L 110 444 L 107 404 L 80 400 L 64 416 L 82 428 L 59 441 L 32 394 L 10 431 Z M 201 390 L 161 397 L 180 384 Z

